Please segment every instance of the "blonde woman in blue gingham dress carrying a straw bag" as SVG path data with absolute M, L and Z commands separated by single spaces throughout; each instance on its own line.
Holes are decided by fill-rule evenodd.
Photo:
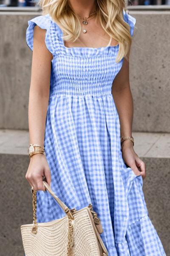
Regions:
M 133 149 L 128 58 L 136 19 L 124 0 L 40 5 L 43 15 L 26 32 L 34 48 L 30 143 L 40 145 L 26 179 L 37 190 L 37 221 L 65 216 L 44 193 L 45 177 L 68 207 L 93 204 L 109 256 L 164 256 L 144 201 L 145 164 Z

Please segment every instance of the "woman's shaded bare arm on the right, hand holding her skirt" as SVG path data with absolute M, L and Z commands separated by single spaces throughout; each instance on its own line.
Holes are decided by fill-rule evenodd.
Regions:
M 127 54 L 129 59 L 130 51 Z M 116 75 L 112 85 L 112 95 L 116 105 L 120 120 L 120 134 L 122 136 L 132 136 L 133 122 L 133 98 L 129 82 L 129 62 L 124 58 L 122 68 Z M 146 177 L 146 167 L 144 162 L 138 157 L 133 149 L 131 140 L 124 140 L 122 143 L 122 157 L 136 175 Z

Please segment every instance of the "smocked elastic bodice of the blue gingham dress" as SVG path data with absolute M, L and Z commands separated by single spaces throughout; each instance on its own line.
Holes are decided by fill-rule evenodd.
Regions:
M 55 83 L 51 92 L 73 95 L 111 93 L 113 79 L 122 66 L 122 61 L 115 65 L 116 52 L 115 48 L 112 55 L 95 57 L 59 53 L 52 65 Z

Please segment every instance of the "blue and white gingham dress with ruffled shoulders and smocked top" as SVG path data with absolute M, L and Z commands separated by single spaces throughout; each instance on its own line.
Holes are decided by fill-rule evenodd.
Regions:
M 123 15 L 133 36 L 136 19 Z M 62 30 L 49 15 L 41 15 L 28 21 L 31 50 L 35 25 L 46 29 L 45 44 L 54 56 L 44 140 L 51 188 L 69 208 L 93 204 L 109 256 L 164 256 L 144 201 L 142 176 L 122 159 L 119 116 L 111 94 L 123 63 L 115 62 L 119 45 L 65 47 Z M 38 222 L 64 216 L 48 192 L 37 191 Z

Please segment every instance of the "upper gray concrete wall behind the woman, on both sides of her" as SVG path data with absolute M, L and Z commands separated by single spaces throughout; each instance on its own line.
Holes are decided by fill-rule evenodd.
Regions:
M 170 11 L 132 11 L 130 56 L 133 131 L 170 132 Z M 32 52 L 27 21 L 40 15 L 0 12 L 0 128 L 28 129 Z

